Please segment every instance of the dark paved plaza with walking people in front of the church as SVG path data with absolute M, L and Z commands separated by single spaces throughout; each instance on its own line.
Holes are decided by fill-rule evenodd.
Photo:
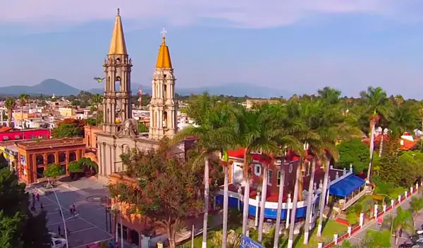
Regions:
M 40 192 L 39 188 L 32 188 L 30 192 Z M 68 243 L 70 248 L 85 248 L 87 244 L 109 240 L 112 235 L 107 231 L 106 212 L 102 201 L 106 200 L 107 190 L 103 185 L 87 178 L 66 182 L 56 188 L 56 194 L 63 209 L 63 217 L 66 220 Z M 39 201 L 47 211 L 47 225 L 49 230 L 58 233 L 61 227 L 63 235 L 63 220 L 60 215 L 56 197 L 51 194 L 40 194 Z M 75 216 L 69 211 L 70 206 L 75 204 Z M 40 211 L 40 204 L 36 200 L 35 207 Z

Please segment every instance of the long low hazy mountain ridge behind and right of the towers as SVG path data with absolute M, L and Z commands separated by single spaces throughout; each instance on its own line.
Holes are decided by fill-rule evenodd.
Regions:
M 138 87 L 140 85 L 133 84 L 131 85 L 131 91 L 133 94 L 138 92 Z M 93 94 L 102 94 L 104 89 L 90 89 L 88 92 Z M 257 98 L 270 98 L 270 97 L 290 97 L 292 93 L 283 90 L 283 89 L 273 89 L 269 87 L 262 87 L 257 85 L 252 85 L 248 83 L 238 82 L 230 83 L 226 85 L 216 85 L 209 87 L 193 87 L 193 88 L 181 88 L 176 87 L 176 93 L 181 96 L 188 96 L 190 94 L 202 94 L 204 92 L 209 92 L 212 95 L 225 94 L 233 97 L 257 97 Z M 152 94 L 151 86 L 142 85 L 142 93 Z

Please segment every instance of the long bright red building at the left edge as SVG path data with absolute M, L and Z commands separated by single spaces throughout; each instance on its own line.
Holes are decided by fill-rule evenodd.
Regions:
M 12 140 L 50 140 L 51 130 L 49 129 L 27 129 L 15 130 L 9 127 L 0 128 L 0 142 Z

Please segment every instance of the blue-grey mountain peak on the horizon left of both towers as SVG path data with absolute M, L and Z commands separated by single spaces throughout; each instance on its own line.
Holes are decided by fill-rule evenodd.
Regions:
M 0 94 L 19 95 L 19 94 L 56 94 L 59 96 L 67 96 L 71 94 L 78 94 L 80 89 L 66 85 L 66 83 L 59 80 L 49 78 L 43 80 L 38 85 L 11 85 L 0 87 Z

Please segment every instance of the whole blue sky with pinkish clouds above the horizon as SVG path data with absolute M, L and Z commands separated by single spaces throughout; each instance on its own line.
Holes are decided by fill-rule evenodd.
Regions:
M 151 83 L 166 27 L 178 87 L 248 82 L 310 94 L 329 85 L 357 95 L 372 85 L 422 99 L 421 0 L 36 2 L 0 2 L 0 86 L 101 87 L 92 77 L 103 75 L 120 7 L 133 83 Z

